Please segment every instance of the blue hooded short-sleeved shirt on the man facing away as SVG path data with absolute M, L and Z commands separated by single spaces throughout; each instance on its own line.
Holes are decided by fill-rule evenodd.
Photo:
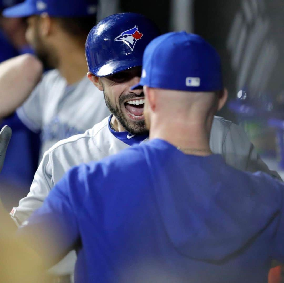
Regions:
M 75 248 L 75 282 L 266 283 L 283 189 L 155 139 L 72 168 L 19 235 L 53 260 Z

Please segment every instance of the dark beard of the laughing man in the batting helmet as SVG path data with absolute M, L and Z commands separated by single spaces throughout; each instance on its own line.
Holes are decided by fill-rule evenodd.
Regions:
M 125 115 L 122 113 L 122 110 L 119 109 L 116 105 L 113 105 L 108 96 L 105 94 L 105 89 L 104 89 L 104 98 L 105 98 L 105 103 L 110 112 L 118 119 L 119 123 L 122 125 L 122 127 L 129 133 L 135 134 L 135 135 L 146 135 L 149 134 L 149 131 L 145 128 L 145 121 L 133 121 L 133 124 L 130 124 Z M 133 98 L 137 97 L 137 95 L 133 95 Z M 131 99 L 131 94 L 129 94 L 129 98 Z M 125 99 L 125 97 L 124 97 Z

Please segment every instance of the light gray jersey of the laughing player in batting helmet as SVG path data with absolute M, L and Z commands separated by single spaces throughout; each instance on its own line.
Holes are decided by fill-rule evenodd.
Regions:
M 53 186 L 72 166 L 82 162 L 100 160 L 129 147 L 110 132 L 108 119 L 107 117 L 84 134 L 59 141 L 45 152 L 35 174 L 30 193 L 21 199 L 19 206 L 13 208 L 10 213 L 18 224 L 28 219 L 32 212 L 42 205 Z M 261 170 L 278 176 L 276 172 L 270 171 L 260 159 L 242 128 L 222 117 L 214 117 L 210 148 L 213 153 L 222 154 L 226 163 L 237 169 L 251 172 Z M 71 273 L 74 263 L 75 253 L 69 254 L 60 265 L 53 269 L 53 272 Z

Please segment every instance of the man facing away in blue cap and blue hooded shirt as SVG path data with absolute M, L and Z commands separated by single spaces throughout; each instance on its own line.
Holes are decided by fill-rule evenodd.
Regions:
M 142 85 L 150 141 L 72 168 L 20 235 L 51 261 L 76 246 L 75 282 L 267 282 L 284 261 L 284 185 L 212 154 L 227 98 L 216 50 L 162 35 Z

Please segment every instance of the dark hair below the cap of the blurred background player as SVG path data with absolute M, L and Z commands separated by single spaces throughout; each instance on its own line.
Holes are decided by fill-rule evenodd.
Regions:
M 73 37 L 86 39 L 89 31 L 96 23 L 96 16 L 84 16 L 76 18 L 56 18 L 64 31 Z

